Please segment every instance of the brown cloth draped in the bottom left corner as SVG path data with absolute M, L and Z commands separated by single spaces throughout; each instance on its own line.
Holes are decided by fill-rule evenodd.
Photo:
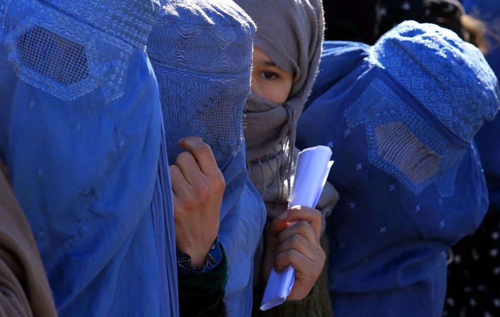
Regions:
M 57 316 L 29 225 L 0 164 L 0 316 Z

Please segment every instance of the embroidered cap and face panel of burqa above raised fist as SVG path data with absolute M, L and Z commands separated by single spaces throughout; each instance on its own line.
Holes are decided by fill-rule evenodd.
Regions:
M 234 152 L 241 143 L 250 89 L 253 26 L 240 13 L 221 12 L 221 21 L 214 25 L 182 10 L 186 9 L 163 7 L 147 40 L 146 52 L 160 87 L 166 138 L 178 135 L 177 130 L 187 123 L 213 150 Z

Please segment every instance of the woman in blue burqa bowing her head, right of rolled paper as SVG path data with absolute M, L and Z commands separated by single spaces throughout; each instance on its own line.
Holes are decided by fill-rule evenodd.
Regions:
M 488 200 L 472 137 L 498 110 L 482 54 L 404 22 L 372 46 L 326 42 L 297 145 L 333 150 L 327 219 L 337 316 L 440 316 L 446 250 Z

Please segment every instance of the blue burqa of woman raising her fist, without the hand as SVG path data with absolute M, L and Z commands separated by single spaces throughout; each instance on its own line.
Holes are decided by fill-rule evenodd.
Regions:
M 225 179 L 219 239 L 230 267 L 224 301 L 235 316 L 251 313 L 253 253 L 265 217 L 241 143 L 254 31 L 232 1 L 177 0 L 162 7 L 147 41 L 168 161 L 180 153 L 180 138 L 198 136 L 212 148 Z

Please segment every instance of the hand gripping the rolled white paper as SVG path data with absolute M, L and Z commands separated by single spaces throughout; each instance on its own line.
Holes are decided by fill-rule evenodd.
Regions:
M 286 300 L 305 298 L 323 269 L 326 255 L 319 245 L 321 219 L 316 209 L 294 206 L 267 228 L 262 277 L 267 280 L 272 266 L 277 272 L 293 266 L 295 281 Z

